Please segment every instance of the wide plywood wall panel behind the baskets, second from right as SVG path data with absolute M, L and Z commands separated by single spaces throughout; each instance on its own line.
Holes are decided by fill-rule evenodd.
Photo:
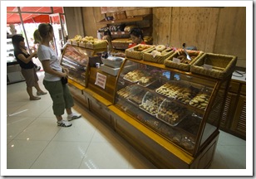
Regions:
M 182 47 L 185 42 L 201 51 L 213 51 L 218 11 L 210 7 L 172 7 L 170 45 Z

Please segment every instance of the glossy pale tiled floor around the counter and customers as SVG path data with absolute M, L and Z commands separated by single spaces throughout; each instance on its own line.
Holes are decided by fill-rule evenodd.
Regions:
M 45 90 L 43 74 L 37 72 Z M 49 94 L 30 101 L 25 82 L 7 85 L 7 169 L 156 168 L 88 110 L 74 110 L 82 118 L 57 127 Z M 221 132 L 210 168 L 245 169 L 246 142 Z

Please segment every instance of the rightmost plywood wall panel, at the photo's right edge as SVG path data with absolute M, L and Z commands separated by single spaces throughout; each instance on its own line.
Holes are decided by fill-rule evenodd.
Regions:
M 245 67 L 246 7 L 220 9 L 214 52 L 238 56 L 237 65 Z

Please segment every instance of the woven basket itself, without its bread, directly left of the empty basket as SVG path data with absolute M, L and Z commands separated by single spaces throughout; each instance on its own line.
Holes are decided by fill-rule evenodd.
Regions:
M 194 62 L 196 60 L 198 60 L 199 57 L 204 54 L 204 52 L 203 51 L 190 51 L 190 50 L 187 50 L 187 52 L 190 55 L 190 58 L 192 58 L 192 60 L 189 61 L 188 64 L 182 63 L 182 62 L 176 63 L 176 62 L 173 61 L 173 59 L 177 58 L 178 56 L 185 56 L 185 52 L 182 49 L 180 51 L 175 51 L 174 54 L 172 54 L 167 59 L 165 59 L 165 61 L 164 61 L 165 66 L 170 67 L 170 68 L 174 68 L 174 69 L 178 69 L 178 70 L 190 71 L 190 66 L 192 64 L 194 64 Z

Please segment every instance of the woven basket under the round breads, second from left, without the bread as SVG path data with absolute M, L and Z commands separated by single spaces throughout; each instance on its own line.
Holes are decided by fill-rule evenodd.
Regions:
M 154 50 L 155 50 L 155 48 L 150 50 L 150 51 L 146 51 L 143 55 L 143 60 L 155 62 L 155 63 L 158 63 L 158 64 L 164 64 L 164 60 L 166 58 L 168 58 L 169 56 L 171 56 L 173 53 L 175 53 L 175 51 L 173 51 L 173 50 L 165 49 L 165 51 L 168 51 L 168 52 L 166 52 L 164 56 L 158 56 L 158 55 L 153 56 L 151 54 L 151 52 L 154 51 Z

